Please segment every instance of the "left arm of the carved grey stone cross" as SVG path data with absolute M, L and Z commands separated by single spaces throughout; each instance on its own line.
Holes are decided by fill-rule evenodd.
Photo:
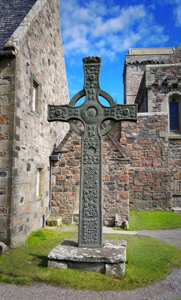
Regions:
M 48 121 L 68 122 L 70 119 L 80 119 L 80 107 L 65 105 L 48 105 Z

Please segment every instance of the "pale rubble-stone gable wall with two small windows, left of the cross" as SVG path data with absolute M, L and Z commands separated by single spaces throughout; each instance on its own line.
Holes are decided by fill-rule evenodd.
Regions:
M 11 130 L 14 135 L 10 236 L 8 233 L 13 246 L 42 226 L 49 202 L 49 155 L 56 141 L 61 140 L 68 130 L 65 123 L 47 122 L 47 104 L 66 104 L 69 101 L 59 1 L 38 0 L 7 45 L 14 46 L 16 51 L 15 97 L 12 102 L 15 126 L 6 127 L 7 133 Z M 36 112 L 32 109 L 33 80 L 39 85 Z M 3 116 L 9 115 L 6 105 Z M 37 169 L 42 169 L 39 196 L 36 196 Z M 1 217 L 0 224 L 0 229 L 4 228 Z

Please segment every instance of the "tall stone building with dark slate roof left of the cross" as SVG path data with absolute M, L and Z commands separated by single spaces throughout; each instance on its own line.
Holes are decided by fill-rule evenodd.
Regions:
M 48 123 L 47 104 L 69 97 L 59 0 L 0 7 L 0 242 L 13 246 L 49 210 L 49 156 L 68 125 Z

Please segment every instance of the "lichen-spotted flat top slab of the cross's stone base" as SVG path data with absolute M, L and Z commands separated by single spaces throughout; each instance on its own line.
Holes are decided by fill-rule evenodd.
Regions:
M 126 241 L 103 241 L 102 248 L 80 248 L 76 239 L 66 239 L 48 254 L 49 259 L 71 260 L 77 262 L 108 262 L 126 261 Z

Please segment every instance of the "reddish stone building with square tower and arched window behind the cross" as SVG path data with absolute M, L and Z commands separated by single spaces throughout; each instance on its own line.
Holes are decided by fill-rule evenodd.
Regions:
M 181 207 L 181 44 L 177 49 L 129 49 L 124 104 L 138 121 L 120 122 L 103 137 L 104 224 L 128 220 L 129 208 Z M 52 214 L 77 223 L 81 139 L 70 129 L 55 152 Z

